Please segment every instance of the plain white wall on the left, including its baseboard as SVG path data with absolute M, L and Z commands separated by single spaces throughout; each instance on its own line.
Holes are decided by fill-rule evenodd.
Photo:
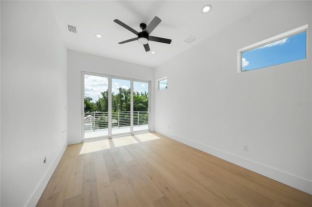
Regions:
M 67 50 L 48 1 L 0 3 L 1 206 L 36 206 L 67 146 Z

